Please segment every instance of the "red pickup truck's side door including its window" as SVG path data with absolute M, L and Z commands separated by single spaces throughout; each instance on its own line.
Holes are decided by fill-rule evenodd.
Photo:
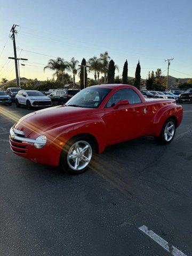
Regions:
M 114 105 L 119 100 L 128 100 L 129 105 Z M 146 107 L 139 95 L 132 89 L 115 92 L 105 106 L 103 118 L 107 127 L 107 145 L 141 137 L 145 134 Z

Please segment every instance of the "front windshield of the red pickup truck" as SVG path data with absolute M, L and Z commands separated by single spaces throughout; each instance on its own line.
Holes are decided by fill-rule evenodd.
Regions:
M 75 94 L 66 105 L 82 108 L 98 108 L 110 91 L 111 89 L 108 88 L 88 87 Z

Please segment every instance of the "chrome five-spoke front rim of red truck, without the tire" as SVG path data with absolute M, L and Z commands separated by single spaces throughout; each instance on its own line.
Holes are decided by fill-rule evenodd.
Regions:
M 71 169 L 78 171 L 84 169 L 92 157 L 91 145 L 84 140 L 75 142 L 68 151 L 67 162 Z

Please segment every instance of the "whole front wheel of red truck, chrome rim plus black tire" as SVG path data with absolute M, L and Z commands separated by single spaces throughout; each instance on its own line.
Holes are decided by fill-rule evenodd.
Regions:
M 94 143 L 90 138 L 73 138 L 62 149 L 60 166 L 70 175 L 83 173 L 89 169 L 94 152 Z

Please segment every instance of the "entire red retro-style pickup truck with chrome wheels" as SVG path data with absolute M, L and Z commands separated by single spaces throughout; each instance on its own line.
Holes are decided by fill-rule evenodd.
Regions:
M 131 85 L 95 85 L 66 105 L 22 117 L 10 130 L 10 146 L 31 161 L 79 174 L 109 145 L 146 135 L 170 143 L 181 121 L 173 99 L 145 99 Z

